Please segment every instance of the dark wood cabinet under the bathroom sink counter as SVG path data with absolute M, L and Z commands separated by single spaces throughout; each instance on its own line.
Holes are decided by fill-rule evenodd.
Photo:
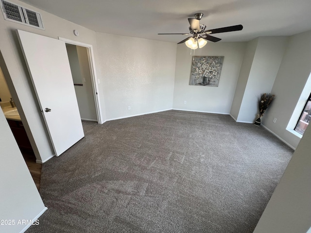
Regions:
M 33 151 L 27 133 L 21 121 L 7 120 L 20 150 Z

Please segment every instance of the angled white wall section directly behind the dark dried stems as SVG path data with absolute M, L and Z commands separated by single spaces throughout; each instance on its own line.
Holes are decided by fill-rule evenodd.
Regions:
M 287 37 L 259 37 L 252 59 L 239 116 L 240 122 L 253 123 L 259 113 L 258 97 L 270 93 L 287 45 Z M 271 107 L 270 107 L 271 108 Z

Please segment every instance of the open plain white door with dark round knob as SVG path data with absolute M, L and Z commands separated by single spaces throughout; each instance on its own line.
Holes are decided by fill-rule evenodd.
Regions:
M 64 41 L 17 30 L 56 156 L 84 137 Z

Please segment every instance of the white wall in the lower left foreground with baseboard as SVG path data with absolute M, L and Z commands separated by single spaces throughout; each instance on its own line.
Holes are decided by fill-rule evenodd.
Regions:
M 0 129 L 0 219 L 15 220 L 0 232 L 17 233 L 27 228 L 18 220 L 37 219 L 46 208 L 2 111 Z

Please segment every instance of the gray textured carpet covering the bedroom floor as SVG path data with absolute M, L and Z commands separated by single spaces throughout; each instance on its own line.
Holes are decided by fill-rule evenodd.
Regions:
M 228 115 L 166 111 L 98 125 L 43 164 L 27 233 L 252 233 L 293 150 Z

